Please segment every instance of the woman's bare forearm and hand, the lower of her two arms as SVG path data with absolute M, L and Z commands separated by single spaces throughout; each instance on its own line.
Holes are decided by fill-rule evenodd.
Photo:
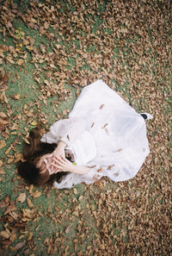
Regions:
M 77 174 L 86 174 L 90 170 L 89 167 L 72 165 L 72 163 L 64 157 L 54 157 L 52 166 L 58 168 L 58 170 L 60 170 L 61 172 L 72 172 Z

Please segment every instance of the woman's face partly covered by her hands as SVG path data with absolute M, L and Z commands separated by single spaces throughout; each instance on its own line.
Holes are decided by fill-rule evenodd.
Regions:
M 58 168 L 51 166 L 52 162 L 52 153 L 44 154 L 40 157 L 38 160 L 36 167 L 40 169 L 40 172 L 46 172 L 48 171 L 50 175 L 53 173 L 58 172 Z

